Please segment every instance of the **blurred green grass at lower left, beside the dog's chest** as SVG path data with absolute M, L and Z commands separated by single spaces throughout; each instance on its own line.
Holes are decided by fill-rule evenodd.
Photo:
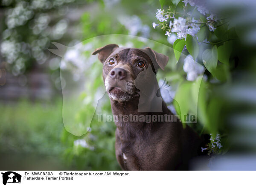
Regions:
M 82 137 L 68 133 L 62 101 L 0 105 L 0 168 L 13 170 L 119 170 L 113 123 L 94 122 Z M 91 137 L 93 136 L 93 138 Z M 75 146 L 86 139 L 93 150 Z

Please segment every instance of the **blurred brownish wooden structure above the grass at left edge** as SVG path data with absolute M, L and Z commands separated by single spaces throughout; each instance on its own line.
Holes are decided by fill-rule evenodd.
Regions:
M 51 76 L 45 68 L 35 67 L 22 76 L 13 76 L 0 64 L 0 101 L 16 102 L 20 99 L 31 101 L 51 100 L 58 91 L 52 84 Z

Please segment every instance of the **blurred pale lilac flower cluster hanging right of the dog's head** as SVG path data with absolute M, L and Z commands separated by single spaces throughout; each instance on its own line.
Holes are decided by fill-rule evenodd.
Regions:
M 195 81 L 198 76 L 204 73 L 205 68 L 195 62 L 191 55 L 188 55 L 184 59 L 183 70 L 187 73 L 186 78 L 188 81 Z

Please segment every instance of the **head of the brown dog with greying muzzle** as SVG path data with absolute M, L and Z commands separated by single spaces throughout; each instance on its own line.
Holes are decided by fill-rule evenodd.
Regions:
M 103 63 L 106 91 L 111 99 L 118 102 L 128 102 L 140 96 L 140 90 L 135 86 L 138 74 L 147 70 L 148 67 L 156 74 L 157 69 L 164 69 L 169 60 L 166 55 L 157 53 L 149 47 L 121 48 L 116 44 L 109 44 L 96 49 L 93 55 L 97 53 L 99 53 L 99 60 Z M 140 83 L 147 80 L 142 78 Z

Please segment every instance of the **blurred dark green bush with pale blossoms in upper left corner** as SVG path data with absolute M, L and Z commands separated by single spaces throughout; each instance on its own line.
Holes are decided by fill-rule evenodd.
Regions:
M 82 0 L 1 1 L 0 51 L 7 62 L 6 68 L 14 76 L 23 74 L 34 67 L 35 62 L 44 64 L 49 60 L 47 48 L 51 41 L 70 42 L 79 38 L 77 20 L 69 14 L 75 16 L 81 3 L 84 6 Z M 71 25 L 76 28 L 70 30 Z

